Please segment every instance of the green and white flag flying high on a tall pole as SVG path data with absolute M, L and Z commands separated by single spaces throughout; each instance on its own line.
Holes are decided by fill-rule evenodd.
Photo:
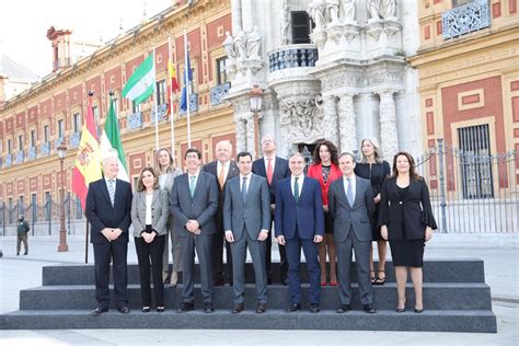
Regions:
M 154 84 L 155 64 L 153 55 L 150 54 L 126 82 L 123 89 L 123 97 L 130 99 L 138 105 L 153 94 Z

